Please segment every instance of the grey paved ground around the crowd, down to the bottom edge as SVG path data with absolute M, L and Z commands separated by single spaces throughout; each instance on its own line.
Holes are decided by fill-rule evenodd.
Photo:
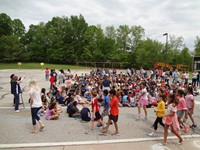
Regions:
M 72 70 L 72 73 L 86 73 L 89 70 Z M 23 105 L 20 105 L 20 112 L 15 113 L 13 107 L 13 95 L 10 94 L 10 75 L 15 73 L 18 76 L 26 77 L 21 83 L 23 88 Z M 119 131 L 120 136 L 112 136 L 114 126 L 111 125 L 106 135 L 101 134 L 101 129 L 95 127 L 92 134 L 85 134 L 90 123 L 82 122 L 80 119 L 69 118 L 66 114 L 66 107 L 62 107 L 63 113 L 59 120 L 47 121 L 44 116 L 41 120 L 46 127 L 37 134 L 30 133 L 31 114 L 28 103 L 29 79 L 38 81 L 42 88 L 49 88 L 49 82 L 45 81 L 42 70 L 0 70 L 0 149 L 22 149 L 22 150 L 99 150 L 99 149 L 143 149 L 143 150 L 179 150 L 179 149 L 200 149 L 200 128 L 190 129 L 188 133 L 182 132 L 184 143 L 178 145 L 178 139 L 169 134 L 167 146 L 160 146 L 163 139 L 163 128 L 158 127 L 155 136 L 148 134 L 153 131 L 151 128 L 155 114 L 153 108 L 148 109 L 148 120 L 136 121 L 137 108 L 120 108 Z M 197 125 L 200 122 L 200 99 L 195 97 L 194 118 Z M 81 108 L 81 106 L 79 106 Z M 143 111 L 142 111 L 143 114 Z M 107 118 L 104 119 L 106 123 Z M 188 124 L 191 122 L 188 120 Z M 38 127 L 39 128 L 39 127 Z

